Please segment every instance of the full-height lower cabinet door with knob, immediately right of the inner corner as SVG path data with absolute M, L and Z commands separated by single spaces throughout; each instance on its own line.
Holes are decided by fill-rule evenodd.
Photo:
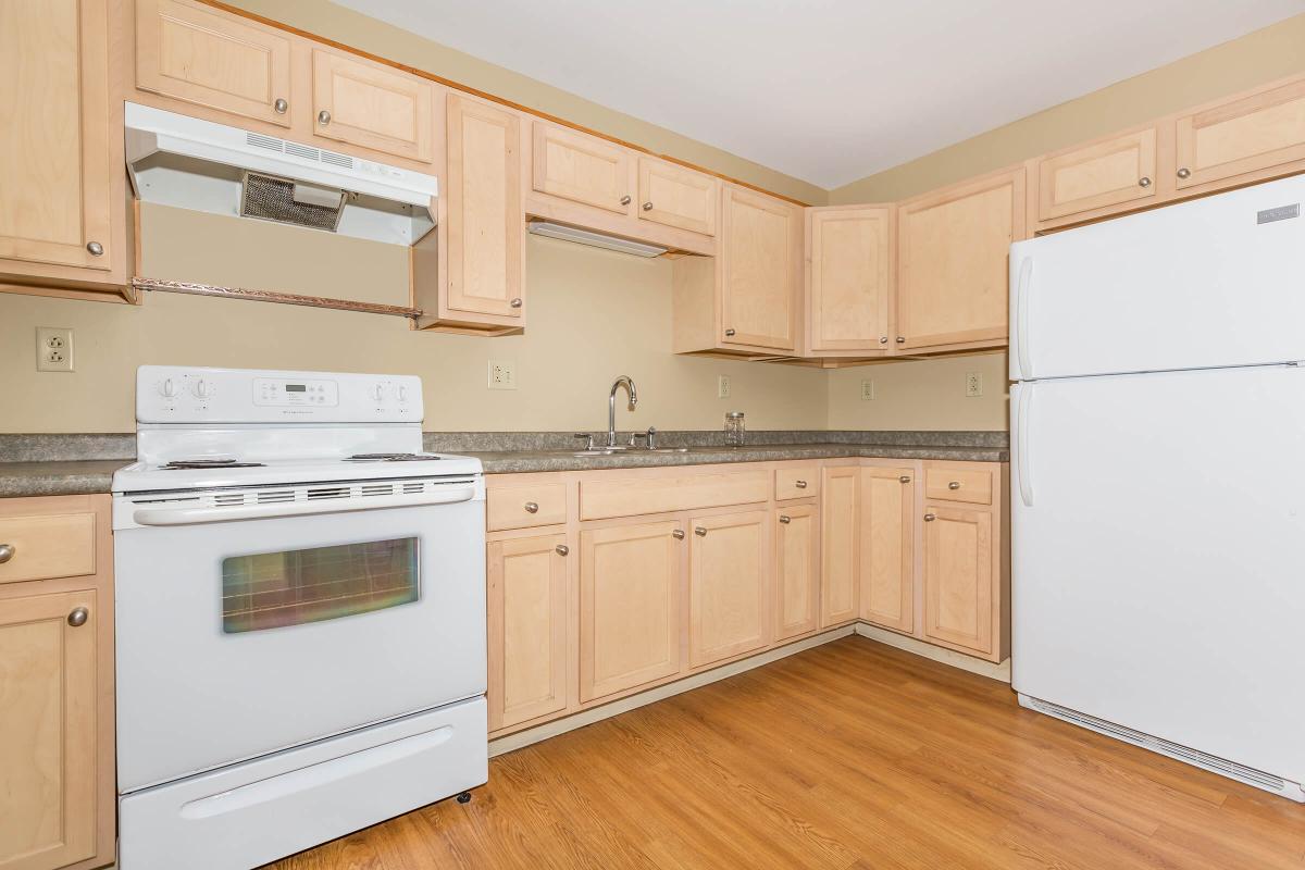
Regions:
M 915 630 L 915 470 L 861 470 L 861 618 Z

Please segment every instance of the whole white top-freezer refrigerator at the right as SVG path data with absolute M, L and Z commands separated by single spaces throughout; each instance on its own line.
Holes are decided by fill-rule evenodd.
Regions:
M 1305 176 L 1010 256 L 1021 703 L 1296 801 L 1302 205 Z

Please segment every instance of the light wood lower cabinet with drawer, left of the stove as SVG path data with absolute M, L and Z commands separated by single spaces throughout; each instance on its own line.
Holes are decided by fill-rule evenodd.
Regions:
M 0 870 L 114 860 L 114 586 L 107 496 L 0 500 Z M 34 519 L 86 518 L 60 561 Z M 78 523 L 84 528 L 85 523 Z M 90 560 L 90 565 L 86 561 Z M 78 577 L 52 575 L 67 565 Z M 97 570 L 98 569 L 98 570 Z M 43 579 L 31 579 L 31 578 Z

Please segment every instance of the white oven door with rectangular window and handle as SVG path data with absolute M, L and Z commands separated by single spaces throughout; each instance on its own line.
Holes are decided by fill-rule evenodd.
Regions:
M 330 505 L 119 496 L 119 790 L 484 694 L 484 490 L 452 483 Z

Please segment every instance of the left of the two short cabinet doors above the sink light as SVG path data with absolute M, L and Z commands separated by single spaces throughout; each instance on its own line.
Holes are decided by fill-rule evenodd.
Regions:
M 535 121 L 532 185 L 573 202 L 630 213 L 630 151 L 594 136 Z

